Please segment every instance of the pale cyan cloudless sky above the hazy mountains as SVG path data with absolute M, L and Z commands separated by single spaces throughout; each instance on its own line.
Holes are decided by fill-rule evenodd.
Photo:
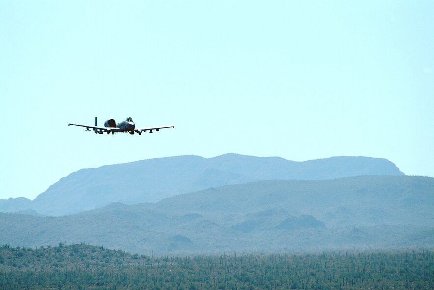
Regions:
M 433 177 L 433 11 L 432 0 L 2 0 L 0 198 L 185 154 L 362 155 Z M 175 128 L 67 126 L 95 116 Z

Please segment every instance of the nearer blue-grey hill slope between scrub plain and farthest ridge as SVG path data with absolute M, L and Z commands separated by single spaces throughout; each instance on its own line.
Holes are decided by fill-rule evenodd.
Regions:
M 86 242 L 134 253 L 430 248 L 434 178 L 269 180 L 69 216 L 0 213 L 0 241 Z

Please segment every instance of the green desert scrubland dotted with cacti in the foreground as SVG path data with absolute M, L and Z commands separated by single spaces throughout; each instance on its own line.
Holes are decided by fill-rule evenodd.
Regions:
M 434 252 L 163 257 L 0 247 L 0 289 L 434 289 Z

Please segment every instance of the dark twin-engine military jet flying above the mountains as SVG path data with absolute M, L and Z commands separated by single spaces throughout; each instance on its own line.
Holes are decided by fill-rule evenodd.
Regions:
M 104 127 L 98 127 L 98 121 L 95 117 L 95 126 L 89 126 L 89 125 L 79 125 L 79 124 L 72 124 L 69 123 L 68 126 L 74 125 L 74 126 L 80 126 L 80 127 L 86 127 L 86 131 L 91 131 L 91 129 L 95 132 L 95 134 L 102 134 L 103 132 L 106 132 L 107 134 L 114 134 L 114 133 L 130 133 L 131 135 L 134 135 L 134 133 L 138 133 L 139 135 L 142 134 L 142 132 L 148 131 L 149 133 L 152 133 L 152 130 L 160 131 L 160 129 L 163 128 L 175 128 L 174 125 L 169 126 L 160 126 L 160 127 L 144 127 L 144 128 L 136 128 L 134 125 L 133 119 L 131 117 L 128 117 L 125 119 L 125 121 L 122 121 L 120 123 L 116 123 L 115 120 L 109 119 L 104 122 Z

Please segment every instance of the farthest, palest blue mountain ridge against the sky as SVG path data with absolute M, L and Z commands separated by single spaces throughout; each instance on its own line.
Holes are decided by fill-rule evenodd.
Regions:
M 390 161 L 332 157 L 294 162 L 279 157 L 225 154 L 214 158 L 176 156 L 82 169 L 71 173 L 33 201 L 0 200 L 2 212 L 61 216 L 113 202 L 158 202 L 182 193 L 259 180 L 325 180 L 363 175 L 404 175 Z M 33 210 L 33 211 L 28 211 Z

